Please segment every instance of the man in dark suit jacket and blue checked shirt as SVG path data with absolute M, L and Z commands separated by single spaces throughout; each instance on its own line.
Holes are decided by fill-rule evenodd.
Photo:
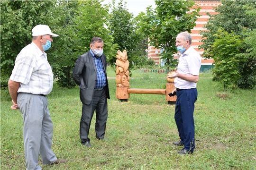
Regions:
M 82 102 L 80 138 L 82 144 L 87 147 L 91 147 L 88 135 L 94 110 L 96 110 L 96 137 L 108 140 L 104 136 L 108 119 L 107 98 L 110 99 L 110 93 L 103 46 L 104 42 L 100 37 L 93 37 L 90 42 L 91 50 L 78 57 L 72 75 L 80 87 Z

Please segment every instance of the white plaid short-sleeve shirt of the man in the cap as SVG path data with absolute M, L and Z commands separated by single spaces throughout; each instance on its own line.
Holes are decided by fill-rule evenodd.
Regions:
M 49 94 L 53 89 L 53 71 L 45 51 L 32 42 L 18 54 L 10 80 L 20 82 L 18 93 Z

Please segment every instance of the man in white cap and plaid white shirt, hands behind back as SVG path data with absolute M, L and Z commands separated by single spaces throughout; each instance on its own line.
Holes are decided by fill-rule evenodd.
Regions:
M 9 93 L 13 105 L 23 114 L 23 138 L 27 170 L 42 170 L 38 165 L 40 153 L 44 164 L 58 164 L 52 151 L 53 123 L 46 95 L 53 88 L 53 72 L 47 61 L 46 50 L 51 47 L 53 34 L 46 25 L 32 29 L 32 42 L 18 54 L 9 78 Z

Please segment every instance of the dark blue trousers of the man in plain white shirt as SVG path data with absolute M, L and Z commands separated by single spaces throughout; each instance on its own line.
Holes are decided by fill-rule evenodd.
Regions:
M 181 142 L 187 151 L 193 151 L 195 149 L 193 113 L 196 100 L 196 88 L 177 91 L 174 119 L 178 127 Z

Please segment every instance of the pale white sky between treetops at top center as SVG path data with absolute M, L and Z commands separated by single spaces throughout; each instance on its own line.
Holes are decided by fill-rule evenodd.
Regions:
M 116 0 L 116 4 L 118 4 L 120 0 Z M 130 13 L 133 14 L 133 17 L 137 17 L 140 12 L 146 12 L 146 7 L 152 6 L 155 8 L 155 0 L 123 0 L 123 2 L 127 2 L 126 8 Z M 112 3 L 112 0 L 105 0 L 102 4 Z

